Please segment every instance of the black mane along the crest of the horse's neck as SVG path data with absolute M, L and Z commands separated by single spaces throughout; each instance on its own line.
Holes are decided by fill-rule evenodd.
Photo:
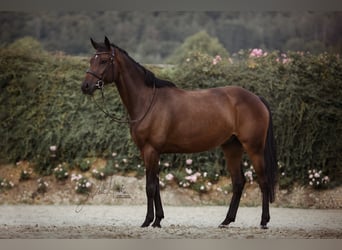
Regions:
M 159 79 L 158 77 L 156 77 L 152 71 L 146 69 L 140 63 L 136 62 L 132 57 L 130 57 L 130 55 L 125 50 L 121 49 L 120 47 L 116 46 L 115 44 L 111 44 L 111 45 L 113 47 L 115 47 L 116 49 L 118 49 L 123 54 L 125 54 L 137 67 L 142 69 L 142 71 L 145 74 L 145 84 L 146 84 L 146 86 L 148 86 L 150 88 L 153 88 L 154 86 L 156 88 L 165 88 L 165 87 L 176 88 L 177 87 L 173 82 L 170 82 L 170 81 L 167 81 L 167 80 L 162 80 L 162 79 Z M 103 46 L 105 48 L 105 45 L 103 45 Z

